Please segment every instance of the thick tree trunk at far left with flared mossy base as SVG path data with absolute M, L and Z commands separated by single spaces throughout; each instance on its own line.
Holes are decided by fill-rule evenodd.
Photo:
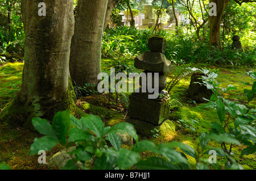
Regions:
M 68 62 L 74 30 L 73 1 L 46 0 L 46 16 L 38 15 L 38 1 L 22 0 L 25 32 L 22 85 L 3 108 L 0 120 L 32 128 L 33 117 L 52 119 L 67 110 L 72 99 Z

